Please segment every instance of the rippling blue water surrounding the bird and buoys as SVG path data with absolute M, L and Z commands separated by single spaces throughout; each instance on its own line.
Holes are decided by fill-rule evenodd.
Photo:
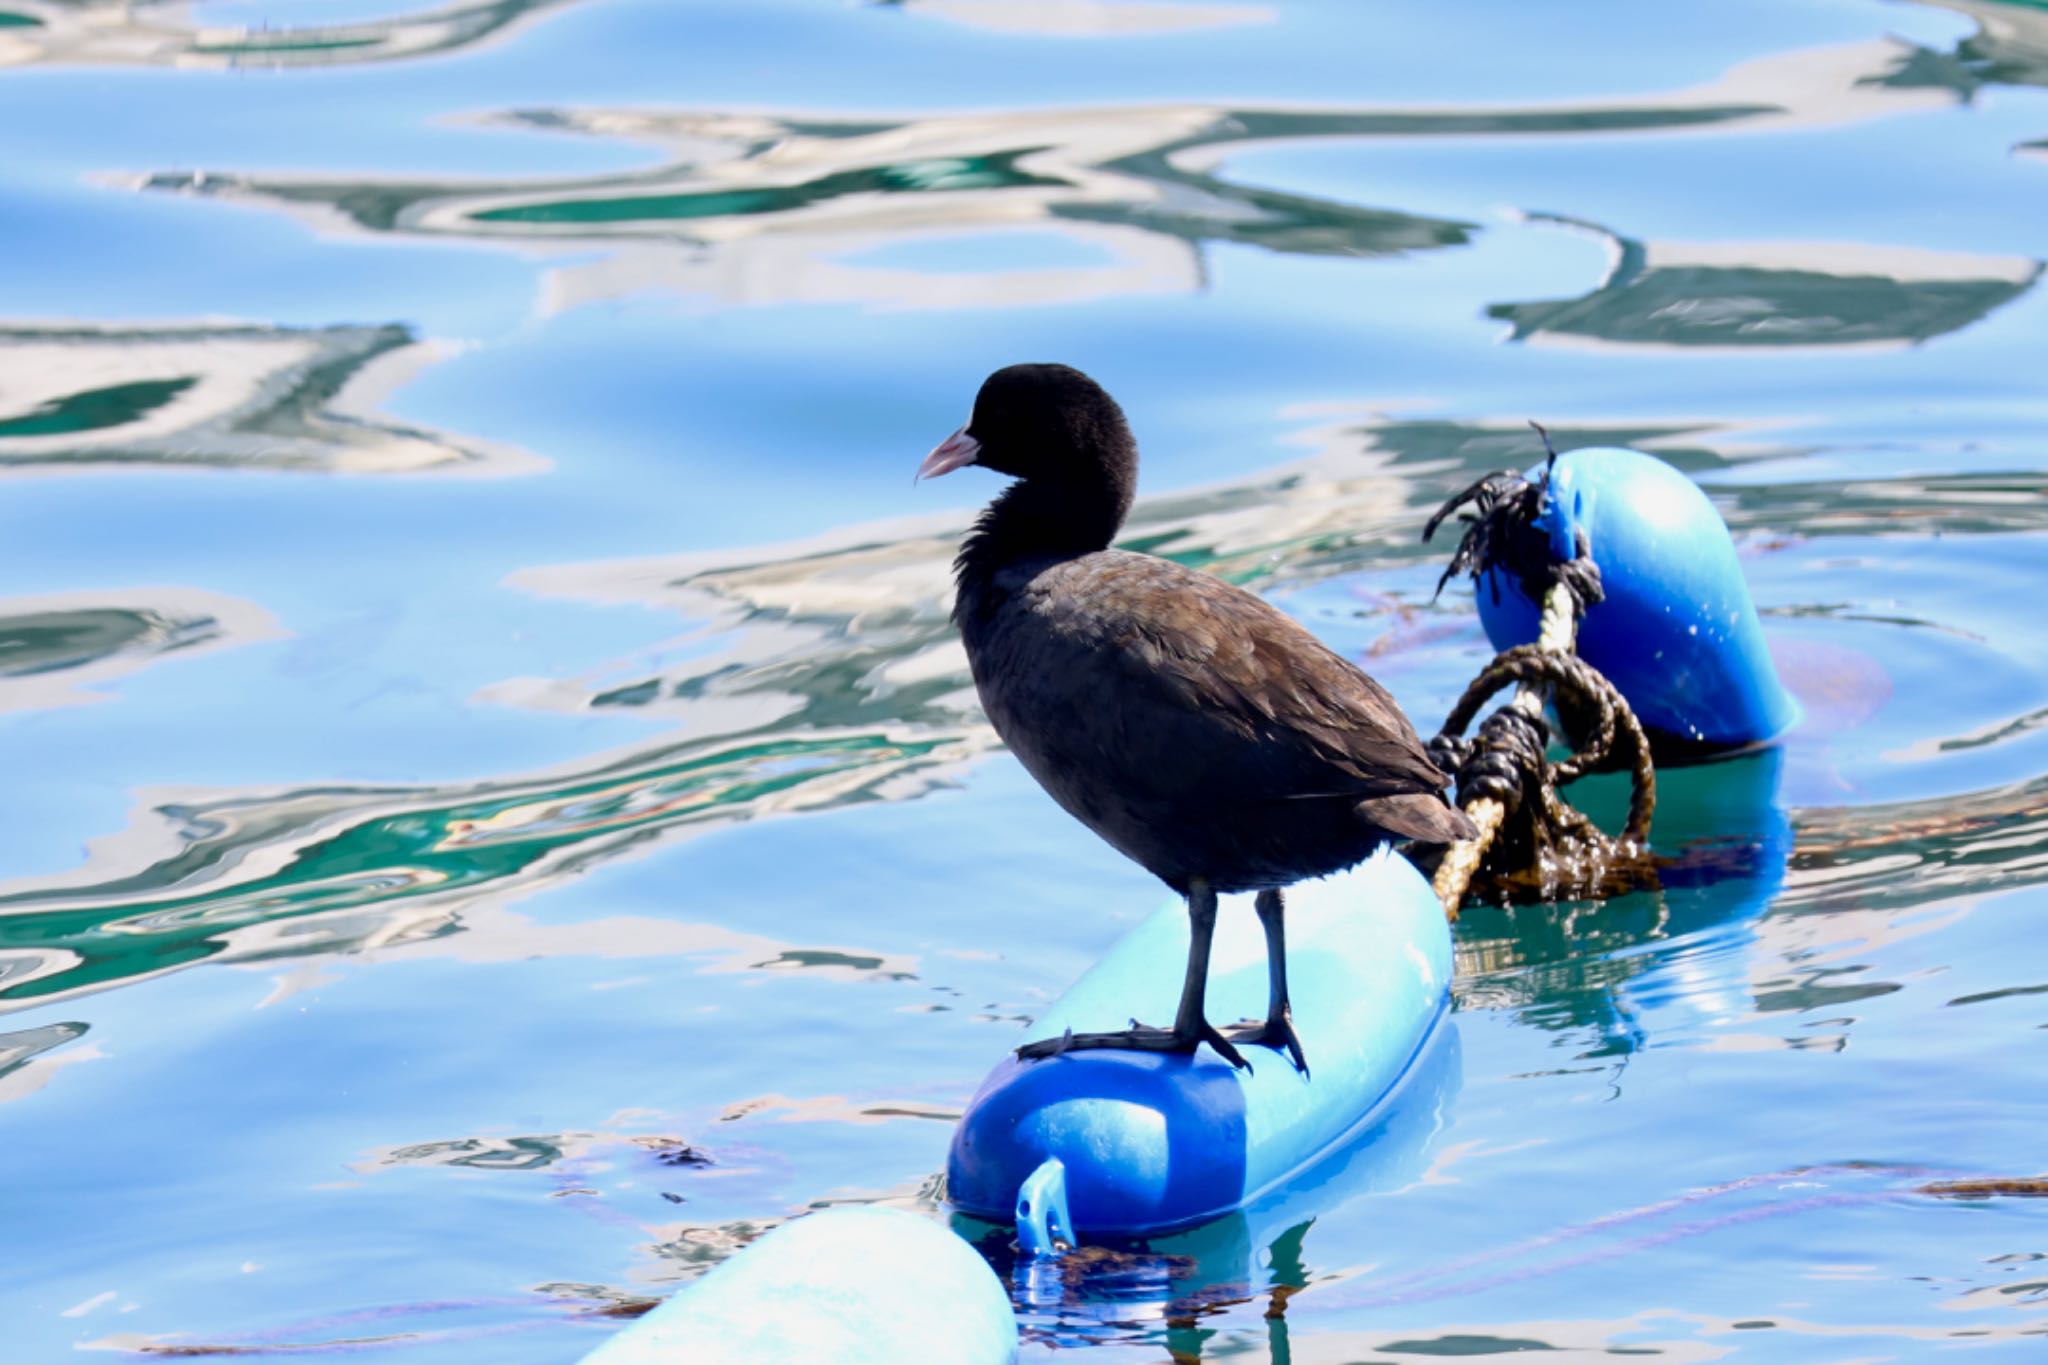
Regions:
M 1425 514 L 1700 479 L 1806 722 L 1673 884 L 1026 1355 L 2048 1351 L 2048 8 L 0 0 L 0 1283 L 74 1349 L 565 1361 L 950 1119 L 1161 896 L 909 489 L 1096 372 L 1126 542 L 1427 726 Z M 1595 784 L 1597 786 L 1597 784 Z M 1587 800 L 1618 808 L 1620 794 Z

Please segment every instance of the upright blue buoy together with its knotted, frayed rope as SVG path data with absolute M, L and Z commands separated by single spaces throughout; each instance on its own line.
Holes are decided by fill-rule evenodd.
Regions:
M 1464 522 L 1438 591 L 1468 573 L 1501 651 L 1430 741 L 1481 831 L 1434 868 L 1452 919 L 1473 894 L 1561 900 L 1657 886 L 1653 749 L 1667 761 L 1724 757 L 1774 741 L 1798 714 L 1763 647 L 1729 528 L 1698 485 L 1638 450 L 1559 456 L 1548 432 L 1530 426 L 1548 456 L 1542 467 L 1479 479 L 1421 532 L 1430 540 L 1454 512 Z M 1626 686 L 1581 641 L 1597 645 L 1599 663 Z M 1509 684 L 1520 684 L 1516 698 L 1464 739 L 1479 706 Z M 1661 745 L 1638 708 L 1661 722 Z M 1548 759 L 1546 710 L 1577 757 Z M 1559 794 L 1610 767 L 1630 778 L 1620 835 Z

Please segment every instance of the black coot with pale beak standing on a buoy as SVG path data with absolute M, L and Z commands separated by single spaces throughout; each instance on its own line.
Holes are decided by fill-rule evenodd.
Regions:
M 1020 1048 L 1192 1052 L 1243 1066 L 1202 997 L 1217 894 L 1257 890 L 1272 997 L 1237 1042 L 1300 1042 L 1286 999 L 1280 890 L 1395 837 L 1473 825 L 1395 700 L 1276 608 L 1223 579 L 1108 548 L 1130 510 L 1137 444 L 1096 381 L 1016 364 L 920 477 L 1016 477 L 954 561 L 952 616 L 989 720 L 1069 814 L 1188 898 L 1188 976 L 1171 1029 L 1133 1023 Z

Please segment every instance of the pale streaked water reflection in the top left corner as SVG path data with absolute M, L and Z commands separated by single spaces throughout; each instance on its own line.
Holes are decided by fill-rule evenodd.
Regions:
M 305 68 L 475 47 L 569 0 L 483 0 L 338 25 L 201 25 L 172 0 L 0 0 L 0 65 Z

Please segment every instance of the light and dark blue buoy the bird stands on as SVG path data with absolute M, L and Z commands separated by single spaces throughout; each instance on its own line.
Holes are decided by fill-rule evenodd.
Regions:
M 1268 1048 L 1245 1050 L 1249 1074 L 1208 1048 L 1012 1056 L 952 1134 L 954 1205 L 1010 1222 L 1036 1175 L 1042 1209 L 1051 1185 L 1042 1169 L 1057 1160 L 1073 1230 L 1149 1236 L 1257 1201 L 1370 1124 L 1448 1005 L 1444 907 L 1413 864 L 1382 849 L 1350 872 L 1290 888 L 1286 935 L 1309 1078 Z M 1126 933 L 1030 1038 L 1120 1029 L 1133 1015 L 1171 1019 L 1186 956 L 1188 915 L 1174 902 Z M 1249 896 L 1229 896 L 1217 921 L 1208 1015 L 1266 1015 L 1266 939 Z M 1024 1228 L 1020 1240 L 1030 1250 L 1059 1238 Z

